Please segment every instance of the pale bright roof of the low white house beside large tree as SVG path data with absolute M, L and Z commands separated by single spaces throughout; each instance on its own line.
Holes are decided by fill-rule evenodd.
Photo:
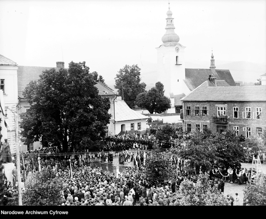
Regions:
M 145 120 L 148 116 L 142 115 L 133 109 L 130 109 L 124 100 L 115 100 L 115 120 L 116 122 L 129 120 Z

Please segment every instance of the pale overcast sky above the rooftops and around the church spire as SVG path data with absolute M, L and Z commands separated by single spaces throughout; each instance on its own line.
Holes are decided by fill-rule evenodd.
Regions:
M 265 64 L 265 2 L 171 0 L 186 62 L 209 62 L 213 48 L 216 66 Z M 29 66 L 86 61 L 106 79 L 125 64 L 149 71 L 145 64 L 156 64 L 167 10 L 168 0 L 0 0 L 0 54 Z

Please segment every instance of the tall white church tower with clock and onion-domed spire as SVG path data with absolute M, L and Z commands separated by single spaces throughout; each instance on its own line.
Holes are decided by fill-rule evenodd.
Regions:
M 170 93 L 182 94 L 185 79 L 185 46 L 179 43 L 179 36 L 175 33 L 174 18 L 170 11 L 170 3 L 166 13 L 166 32 L 157 49 L 158 81 L 164 85 L 165 96 Z

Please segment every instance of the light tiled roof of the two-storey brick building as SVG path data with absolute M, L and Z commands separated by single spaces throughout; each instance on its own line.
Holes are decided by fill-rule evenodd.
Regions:
M 266 101 L 266 85 L 260 86 L 207 86 L 202 83 L 184 101 Z

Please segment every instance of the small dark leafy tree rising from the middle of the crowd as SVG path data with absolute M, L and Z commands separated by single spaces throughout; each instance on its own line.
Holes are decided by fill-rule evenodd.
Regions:
M 171 154 L 153 150 L 145 161 L 145 175 L 151 182 L 175 179 L 175 165 L 170 163 Z

